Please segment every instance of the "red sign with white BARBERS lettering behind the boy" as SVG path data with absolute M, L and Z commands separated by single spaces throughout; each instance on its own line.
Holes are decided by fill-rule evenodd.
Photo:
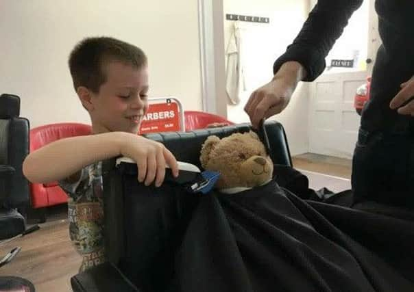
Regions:
M 180 112 L 177 103 L 154 103 L 148 106 L 141 122 L 140 134 L 180 131 Z

